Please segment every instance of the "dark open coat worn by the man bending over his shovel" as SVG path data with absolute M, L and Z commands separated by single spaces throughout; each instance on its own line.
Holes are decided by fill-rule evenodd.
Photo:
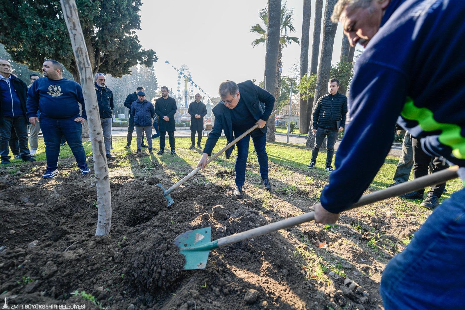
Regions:
M 244 100 L 253 118 L 257 121 L 260 119 L 268 121 L 274 107 L 274 96 L 265 89 L 253 84 L 252 81 L 245 81 L 237 84 L 237 86 L 239 87 L 240 98 Z M 262 104 L 265 104 L 265 108 L 263 108 Z M 230 109 L 220 101 L 220 103 L 213 108 L 212 112 L 213 115 L 215 115 L 215 123 L 213 124 L 213 129 L 208 135 L 204 147 L 204 153 L 207 153 L 209 156 L 212 155 L 212 150 L 223 130 L 225 131 L 228 143 L 234 140 Z M 247 130 L 249 128 L 244 129 Z M 260 128 L 260 130 L 266 133 L 266 126 Z M 226 150 L 226 158 L 231 156 L 233 149 L 234 147 Z

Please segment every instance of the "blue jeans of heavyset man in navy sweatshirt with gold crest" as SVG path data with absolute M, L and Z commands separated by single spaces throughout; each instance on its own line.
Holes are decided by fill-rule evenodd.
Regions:
M 45 143 L 45 156 L 48 168 L 58 168 L 61 137 L 65 136 L 74 158 L 79 165 L 86 163 L 86 152 L 82 146 L 82 125 L 71 119 L 51 119 L 40 117 L 40 126 Z

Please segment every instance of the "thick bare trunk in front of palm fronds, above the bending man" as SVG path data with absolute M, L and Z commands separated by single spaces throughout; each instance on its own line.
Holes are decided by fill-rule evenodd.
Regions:
M 278 67 L 280 20 L 281 0 L 268 0 L 268 35 L 266 39 L 265 76 L 263 83 L 268 92 L 275 94 L 275 98 L 277 98 L 276 68 Z M 266 122 L 266 127 L 266 141 L 274 142 L 276 140 L 274 136 L 274 117 L 270 117 Z

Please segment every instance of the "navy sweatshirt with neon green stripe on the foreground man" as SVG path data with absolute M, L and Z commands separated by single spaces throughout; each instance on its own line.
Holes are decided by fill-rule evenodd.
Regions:
M 339 213 L 384 163 L 396 121 L 430 155 L 465 166 L 465 1 L 392 0 L 355 65 L 351 120 L 320 197 Z

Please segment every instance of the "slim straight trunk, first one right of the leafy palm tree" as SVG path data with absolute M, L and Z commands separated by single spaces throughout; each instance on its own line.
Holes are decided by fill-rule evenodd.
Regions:
M 304 0 L 304 13 L 302 17 L 302 40 L 300 41 L 300 78 L 308 72 L 308 44 L 310 38 L 310 13 L 312 0 Z M 307 101 L 300 94 L 299 104 L 299 133 L 308 133 Z

